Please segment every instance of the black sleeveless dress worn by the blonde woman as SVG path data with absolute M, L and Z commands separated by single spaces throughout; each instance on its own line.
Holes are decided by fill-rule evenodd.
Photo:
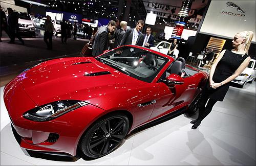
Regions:
M 216 66 L 214 76 L 212 80 L 215 83 L 220 83 L 230 77 L 241 65 L 241 63 L 248 57 L 247 54 L 242 56 L 242 54 L 232 53 L 226 50 L 223 57 Z M 209 85 L 209 80 L 207 81 L 204 89 L 202 90 L 202 97 L 208 97 L 210 99 L 215 99 L 217 101 L 223 101 L 229 85 L 231 82 L 226 83 L 216 89 L 211 88 Z

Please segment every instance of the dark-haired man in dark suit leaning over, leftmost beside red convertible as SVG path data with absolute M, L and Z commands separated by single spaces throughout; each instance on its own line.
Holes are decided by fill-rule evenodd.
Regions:
M 109 47 L 109 33 L 114 32 L 116 29 L 116 22 L 110 20 L 108 26 L 102 26 L 98 29 L 94 37 L 93 53 L 92 55 L 98 56 L 103 51 L 108 50 Z

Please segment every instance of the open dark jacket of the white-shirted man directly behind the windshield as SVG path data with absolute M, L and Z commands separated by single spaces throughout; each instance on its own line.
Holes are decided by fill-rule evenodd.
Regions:
M 120 45 L 129 45 L 129 44 L 132 44 L 132 40 L 133 40 L 133 31 L 134 31 L 134 28 L 133 29 L 127 29 L 126 32 L 124 33 L 124 36 L 121 40 L 121 43 Z M 137 39 L 137 42 L 136 42 L 136 45 L 140 45 L 142 46 L 143 45 L 143 41 L 144 41 L 144 35 L 139 32 L 139 36 L 138 36 L 138 39 Z

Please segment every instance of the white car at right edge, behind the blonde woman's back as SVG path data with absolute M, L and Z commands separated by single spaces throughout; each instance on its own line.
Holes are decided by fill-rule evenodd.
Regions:
M 252 83 L 256 77 L 256 60 L 251 59 L 248 66 L 243 70 L 243 72 L 234 80 L 232 83 L 236 83 L 243 87 L 247 82 Z

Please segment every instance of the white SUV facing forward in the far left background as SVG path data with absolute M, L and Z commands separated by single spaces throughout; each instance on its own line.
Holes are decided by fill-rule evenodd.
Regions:
M 35 36 L 35 26 L 30 14 L 18 12 L 18 27 L 19 32 Z

